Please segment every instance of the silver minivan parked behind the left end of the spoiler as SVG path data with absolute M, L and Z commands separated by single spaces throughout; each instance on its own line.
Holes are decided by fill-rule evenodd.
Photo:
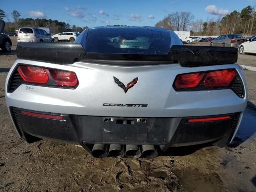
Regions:
M 53 38 L 45 30 L 32 27 L 19 29 L 17 35 L 18 42 L 54 42 Z

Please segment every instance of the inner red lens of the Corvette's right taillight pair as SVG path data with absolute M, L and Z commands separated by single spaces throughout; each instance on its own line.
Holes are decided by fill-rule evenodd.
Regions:
M 178 75 L 175 81 L 176 88 L 192 88 L 204 77 L 204 73 L 191 73 Z

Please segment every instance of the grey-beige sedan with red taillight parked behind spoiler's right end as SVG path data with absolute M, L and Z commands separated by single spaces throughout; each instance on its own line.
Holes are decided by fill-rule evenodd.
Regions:
M 240 44 L 246 41 L 247 39 L 240 34 L 225 34 L 220 35 L 216 39 L 212 40 L 210 42 L 210 46 L 238 48 Z

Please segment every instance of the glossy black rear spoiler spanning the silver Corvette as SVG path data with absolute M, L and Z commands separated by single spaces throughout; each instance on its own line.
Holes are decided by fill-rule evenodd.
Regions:
M 18 43 L 17 57 L 72 64 L 87 61 L 121 66 L 156 65 L 179 62 L 182 67 L 198 67 L 237 62 L 237 49 L 210 46 L 172 46 L 168 54 L 95 54 L 87 53 L 80 43 Z M 140 62 L 143 61 L 143 62 Z

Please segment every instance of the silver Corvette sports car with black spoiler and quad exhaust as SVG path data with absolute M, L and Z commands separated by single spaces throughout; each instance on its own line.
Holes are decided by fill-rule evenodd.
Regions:
M 247 103 L 236 48 L 183 46 L 153 27 L 98 27 L 74 43 L 19 43 L 6 79 L 27 142 L 80 144 L 94 157 L 154 158 L 234 138 Z

